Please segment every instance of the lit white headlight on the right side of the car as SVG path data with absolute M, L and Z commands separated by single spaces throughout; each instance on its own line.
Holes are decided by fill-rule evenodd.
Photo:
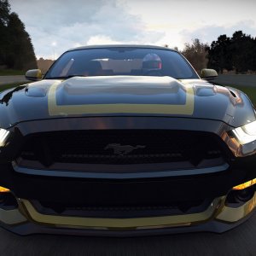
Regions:
M 247 144 L 256 140 L 256 121 L 232 130 L 239 143 Z

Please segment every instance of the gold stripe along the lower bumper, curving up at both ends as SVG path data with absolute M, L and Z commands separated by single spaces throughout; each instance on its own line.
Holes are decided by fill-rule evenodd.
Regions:
M 37 212 L 29 201 L 24 199 L 20 200 L 25 207 L 26 212 L 32 218 L 33 221 L 40 224 L 54 224 L 54 225 L 67 225 L 77 226 L 84 228 L 113 228 L 113 229 L 131 229 L 142 227 L 154 227 L 154 226 L 170 226 L 170 225 L 189 225 L 193 222 L 207 221 L 212 218 L 220 199 L 217 198 L 212 202 L 212 205 L 208 207 L 205 212 L 163 216 L 163 217 L 148 217 L 148 218 L 82 218 L 82 217 L 67 217 L 67 216 L 55 216 L 46 215 Z

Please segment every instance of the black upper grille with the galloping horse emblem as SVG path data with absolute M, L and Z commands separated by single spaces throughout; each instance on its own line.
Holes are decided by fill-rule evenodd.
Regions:
M 222 140 L 199 131 L 53 131 L 26 136 L 25 141 L 19 157 L 44 166 L 186 163 L 191 168 L 225 157 Z

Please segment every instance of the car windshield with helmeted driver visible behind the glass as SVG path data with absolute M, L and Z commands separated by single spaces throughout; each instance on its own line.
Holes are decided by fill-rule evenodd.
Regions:
M 193 68 L 176 51 L 136 47 L 68 51 L 55 61 L 44 79 L 117 75 L 198 79 Z

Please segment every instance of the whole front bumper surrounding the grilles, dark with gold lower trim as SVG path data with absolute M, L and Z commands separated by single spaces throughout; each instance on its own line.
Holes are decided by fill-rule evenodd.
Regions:
M 224 137 L 228 128 L 221 122 L 195 119 L 100 119 L 77 122 L 76 119 L 24 122 L 17 125 L 20 135 L 34 132 L 59 130 L 101 129 L 173 129 L 183 125 L 189 130 L 209 131 L 218 134 L 229 145 L 233 156 L 224 164 L 191 170 L 168 170 L 155 166 L 142 172 L 70 172 L 19 166 L 13 158 L 0 164 L 1 186 L 9 188 L 15 195 L 17 207 L 0 207 L 1 225 L 20 235 L 34 233 L 74 234 L 90 236 L 143 236 L 150 234 L 180 233 L 189 231 L 224 232 L 243 222 L 255 207 L 256 195 L 239 207 L 225 204 L 230 189 L 256 177 L 256 160 L 252 155 L 241 157 L 236 145 Z M 66 124 L 67 123 L 67 124 Z M 58 125 L 56 125 L 58 124 Z M 102 125 L 103 124 L 103 125 Z M 131 126 L 131 127 L 130 127 Z M 16 128 L 17 128 L 16 127 Z M 17 148 L 19 141 L 15 140 Z M 22 143 L 22 140 L 20 140 Z M 233 150 L 232 150 L 233 149 Z M 16 149 L 18 150 L 18 149 Z M 13 152 L 13 148 L 9 148 Z M 6 152 L 8 155 L 9 152 Z M 242 153 L 242 151 L 241 151 Z M 154 168 L 154 164 L 150 164 Z M 93 166 L 95 168 L 95 166 Z M 106 167 L 106 166 L 104 166 Z M 129 168 L 131 166 L 128 166 Z M 117 166 L 116 168 L 119 168 Z M 124 168 L 124 166 L 123 166 Z M 113 171 L 113 170 L 112 170 Z M 140 171 L 140 170 L 139 170 Z M 182 214 L 144 214 L 139 216 L 67 216 L 40 212 L 33 201 L 50 201 L 52 204 L 73 202 L 79 205 L 108 207 L 137 207 L 143 205 L 165 206 L 175 202 L 210 200 L 207 208 L 198 212 Z M 105 213 L 105 212 L 103 212 Z

